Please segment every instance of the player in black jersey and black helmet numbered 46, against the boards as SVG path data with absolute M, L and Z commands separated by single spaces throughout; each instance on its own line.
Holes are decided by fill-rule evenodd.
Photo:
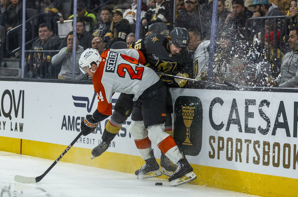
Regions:
M 142 51 L 146 60 L 145 65 L 154 71 L 189 78 L 189 74 L 192 73 L 193 63 L 192 56 L 187 48 L 188 43 L 189 34 L 187 30 L 176 27 L 170 32 L 170 36 L 150 34 L 132 43 L 131 48 Z M 183 79 L 170 79 L 164 76 L 161 76 L 161 78 L 165 84 L 176 84 L 177 87 L 182 87 L 187 83 Z M 173 136 L 171 113 L 173 113 L 173 103 L 167 87 L 165 132 Z M 160 165 L 164 175 L 171 176 L 175 171 L 174 165 L 163 153 L 161 153 Z

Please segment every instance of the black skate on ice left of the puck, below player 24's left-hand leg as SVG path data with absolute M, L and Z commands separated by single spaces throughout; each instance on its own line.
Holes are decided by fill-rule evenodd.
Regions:
M 135 171 L 138 179 L 148 179 L 156 176 L 161 176 L 162 173 L 159 171 L 159 165 L 153 155 L 153 149 L 150 152 L 150 159 L 145 160 L 145 164 L 137 171 Z

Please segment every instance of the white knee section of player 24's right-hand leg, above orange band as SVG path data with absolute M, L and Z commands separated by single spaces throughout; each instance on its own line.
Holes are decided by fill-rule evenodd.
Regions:
M 148 137 L 153 144 L 157 145 L 170 134 L 164 132 L 164 124 L 148 126 Z

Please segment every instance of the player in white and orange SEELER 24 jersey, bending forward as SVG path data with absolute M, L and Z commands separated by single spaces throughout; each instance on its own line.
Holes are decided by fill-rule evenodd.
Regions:
M 196 175 L 186 158 L 180 153 L 173 137 L 164 132 L 166 88 L 152 69 L 139 63 L 142 59 L 145 59 L 143 54 L 135 49 L 108 49 L 100 55 L 96 49 L 89 48 L 82 53 L 79 66 L 83 73 L 92 77 L 98 105 L 93 115 L 86 115 L 82 121 L 81 132 L 83 135 L 92 133 L 98 122 L 112 114 L 111 97 L 114 92 L 133 94 L 134 107 L 139 109 L 137 118 L 139 120 L 142 117 L 142 121 L 135 121 L 137 113 L 134 113 L 129 130 L 135 142 L 142 144 L 143 149 L 139 149 L 139 152 L 145 160 L 145 165 L 136 174 L 146 176 L 152 169 L 156 169 L 155 165 L 158 163 L 151 150 L 152 142 L 178 165 L 176 172 L 169 178 L 172 186 L 178 186 L 196 179 Z M 124 103 L 125 99 L 123 98 Z M 128 100 L 128 102 L 131 101 Z M 115 129 L 117 126 L 121 128 L 122 120 L 121 114 L 113 113 L 106 128 Z M 107 147 L 103 148 L 102 151 L 107 149 Z M 153 173 L 160 175 L 159 165 Z

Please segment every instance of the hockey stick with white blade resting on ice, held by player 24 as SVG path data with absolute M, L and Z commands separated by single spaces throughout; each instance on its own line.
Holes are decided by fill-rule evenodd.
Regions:
M 14 180 L 19 183 L 37 183 L 40 182 L 41 179 L 46 176 L 46 174 L 58 163 L 58 161 L 69 151 L 69 149 L 75 144 L 75 142 L 81 137 L 82 133 L 80 132 L 79 135 L 70 143 L 70 145 L 62 152 L 61 155 L 52 163 L 52 165 L 40 176 L 37 177 L 27 177 L 21 175 L 15 175 Z

